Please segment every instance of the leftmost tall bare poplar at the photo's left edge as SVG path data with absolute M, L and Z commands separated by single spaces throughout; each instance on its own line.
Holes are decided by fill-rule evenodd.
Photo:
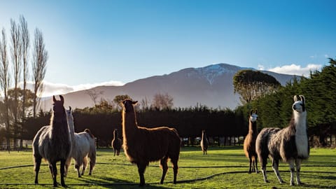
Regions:
M 7 149 L 10 151 L 10 118 L 9 118 L 9 106 L 8 106 L 8 86 L 10 85 L 10 73 L 8 71 L 8 55 L 7 55 L 7 41 L 6 31 L 3 28 L 1 31 L 0 40 L 0 85 L 1 92 L 3 93 L 3 104 L 5 106 L 5 125 L 6 125 L 6 141 Z

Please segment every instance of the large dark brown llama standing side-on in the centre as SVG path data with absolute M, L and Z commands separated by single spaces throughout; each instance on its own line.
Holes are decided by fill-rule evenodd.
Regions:
M 174 184 L 179 169 L 181 139 L 174 128 L 157 127 L 146 128 L 137 125 L 134 104 L 130 99 L 123 101 L 123 148 L 130 162 L 137 164 L 140 186 L 144 186 L 144 172 L 149 162 L 160 160 L 162 177 L 160 183 L 165 180 L 168 170 L 167 160 L 170 158 L 174 170 Z

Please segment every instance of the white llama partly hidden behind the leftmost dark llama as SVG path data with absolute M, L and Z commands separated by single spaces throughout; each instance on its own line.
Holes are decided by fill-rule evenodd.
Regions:
M 69 110 L 66 110 L 66 120 L 69 125 L 70 136 L 72 140 L 72 151 L 71 155 L 66 160 L 65 176 L 68 173 L 69 166 L 71 164 L 71 158 L 76 161 L 75 168 L 77 169 L 78 178 L 84 175 L 85 169 L 87 167 L 87 157 L 90 158 L 89 175 L 91 175 L 94 165 L 96 164 L 96 145 L 94 136 L 88 129 L 85 129 L 84 132 L 80 133 L 75 132 L 71 107 L 69 107 Z M 82 166 L 83 168 L 80 174 L 80 167 Z

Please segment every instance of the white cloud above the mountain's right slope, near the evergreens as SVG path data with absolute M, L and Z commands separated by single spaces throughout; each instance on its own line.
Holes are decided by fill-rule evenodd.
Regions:
M 321 70 L 321 68 L 321 64 L 307 64 L 307 66 L 305 67 L 296 64 L 290 64 L 284 66 L 276 66 L 275 68 L 268 69 L 268 71 L 291 74 L 296 76 L 309 76 L 310 71 Z

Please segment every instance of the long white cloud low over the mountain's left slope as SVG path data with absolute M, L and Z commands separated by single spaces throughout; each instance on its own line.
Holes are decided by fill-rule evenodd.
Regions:
M 87 84 L 80 84 L 80 85 L 66 85 L 66 84 L 61 84 L 61 83 L 50 83 L 48 81 L 43 81 L 43 94 L 42 97 L 50 97 L 52 95 L 56 94 L 66 94 L 69 92 L 74 92 L 78 90 L 87 90 L 92 87 L 97 87 L 97 86 L 121 86 L 124 85 L 124 83 L 116 80 L 110 80 L 106 81 L 103 83 L 87 83 Z M 22 87 L 22 86 L 20 86 Z M 27 82 L 27 87 L 29 90 L 33 90 L 34 84 L 32 82 Z

